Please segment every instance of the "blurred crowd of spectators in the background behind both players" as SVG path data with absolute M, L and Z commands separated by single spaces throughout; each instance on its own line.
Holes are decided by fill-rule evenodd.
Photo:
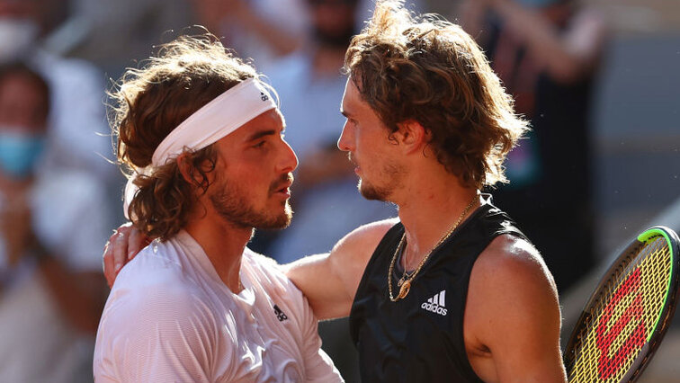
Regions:
M 414 2 L 408 2 L 414 3 Z M 416 1 L 428 10 L 428 2 Z M 450 5 L 488 52 L 532 133 L 492 191 L 544 254 L 559 289 L 594 263 L 590 94 L 604 47 L 600 15 L 568 0 Z M 454 6 L 455 5 L 455 6 Z M 153 47 L 202 25 L 269 77 L 300 158 L 295 216 L 251 247 L 288 263 L 327 252 L 364 223 L 396 216 L 364 200 L 336 149 L 344 50 L 369 0 L 0 0 L 0 381 L 91 380 L 108 293 L 101 254 L 123 222 L 105 90 Z M 349 381 L 346 324 L 322 325 Z

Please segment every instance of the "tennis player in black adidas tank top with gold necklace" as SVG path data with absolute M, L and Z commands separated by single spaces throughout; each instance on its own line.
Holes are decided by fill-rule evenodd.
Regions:
M 357 228 L 287 275 L 319 319 L 352 311 L 364 382 L 565 382 L 550 272 L 479 196 L 506 181 L 526 122 L 477 44 L 458 25 L 379 1 L 345 70 L 338 147 L 362 195 L 396 204 L 399 217 Z M 110 282 L 139 242 L 132 233 L 112 236 Z

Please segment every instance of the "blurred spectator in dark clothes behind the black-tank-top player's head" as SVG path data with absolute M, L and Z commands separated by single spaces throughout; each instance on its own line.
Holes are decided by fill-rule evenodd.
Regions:
M 576 0 L 469 0 L 462 11 L 516 111 L 532 121 L 495 201 L 568 289 L 595 263 L 588 112 L 604 20 Z

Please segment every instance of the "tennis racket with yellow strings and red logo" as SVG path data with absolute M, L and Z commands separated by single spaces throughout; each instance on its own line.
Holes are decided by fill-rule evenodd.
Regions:
M 604 274 L 564 354 L 569 383 L 634 382 L 676 311 L 678 237 L 651 227 Z

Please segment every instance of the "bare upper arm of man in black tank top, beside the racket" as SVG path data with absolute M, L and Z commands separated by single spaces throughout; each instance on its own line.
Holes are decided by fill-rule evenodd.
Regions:
M 475 263 L 468 294 L 465 342 L 480 378 L 566 381 L 557 289 L 531 245 L 512 236 L 497 237 Z M 485 364 L 476 353 L 490 354 L 490 361 Z

